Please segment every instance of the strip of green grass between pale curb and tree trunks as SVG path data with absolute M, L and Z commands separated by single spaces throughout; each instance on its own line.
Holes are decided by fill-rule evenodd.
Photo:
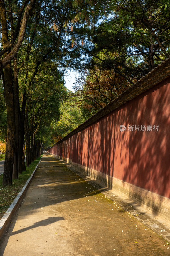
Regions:
M 3 174 L 0 175 L 0 219 L 8 210 L 15 197 L 24 187 L 26 181 L 29 179 L 35 167 L 39 163 L 41 156 L 38 157 L 33 163 L 31 163 L 29 167 L 26 167 L 26 171 L 22 172 L 22 174 L 19 174 L 19 179 L 12 180 L 12 186 L 4 187 L 2 185 Z

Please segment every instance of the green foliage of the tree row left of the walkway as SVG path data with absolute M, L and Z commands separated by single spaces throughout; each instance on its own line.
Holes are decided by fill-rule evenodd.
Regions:
M 18 54 L 20 101 L 25 95 L 29 132 L 43 143 L 51 120 L 59 119 L 60 102 L 67 93 L 63 67 L 73 54 L 64 50 L 70 49 L 70 37 L 65 35 L 75 14 L 72 1 L 37 6 Z

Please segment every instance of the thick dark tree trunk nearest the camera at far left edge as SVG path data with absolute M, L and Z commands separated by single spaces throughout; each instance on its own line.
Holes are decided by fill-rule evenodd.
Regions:
M 8 46 L 8 24 L 6 17 L 5 2 L 0 1 L 0 20 L 1 20 L 1 35 L 3 49 Z M 8 52 L 3 54 L 3 61 L 7 58 Z M 12 172 L 14 163 L 14 150 L 15 150 L 15 111 L 14 111 L 14 92 L 13 92 L 13 79 L 11 73 L 11 60 L 4 65 L 3 70 L 0 71 L 3 74 L 3 86 L 4 97 L 7 110 L 7 143 L 6 143 L 6 155 L 4 161 L 4 175 L 3 185 L 12 185 Z M 2 64 L 2 60 L 1 60 Z M 2 65 L 1 67 L 2 68 Z

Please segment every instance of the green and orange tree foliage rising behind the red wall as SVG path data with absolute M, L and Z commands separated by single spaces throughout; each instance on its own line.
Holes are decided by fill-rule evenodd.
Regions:
M 170 5 L 111 0 L 77 6 L 82 10 L 72 21 L 73 48 L 85 58 L 72 95 L 88 118 L 170 56 Z

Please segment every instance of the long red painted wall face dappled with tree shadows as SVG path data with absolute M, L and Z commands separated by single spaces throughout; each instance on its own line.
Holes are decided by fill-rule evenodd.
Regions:
M 126 131 L 120 131 L 121 124 Z M 129 125 L 159 128 L 127 131 Z M 170 78 L 50 152 L 170 198 Z

